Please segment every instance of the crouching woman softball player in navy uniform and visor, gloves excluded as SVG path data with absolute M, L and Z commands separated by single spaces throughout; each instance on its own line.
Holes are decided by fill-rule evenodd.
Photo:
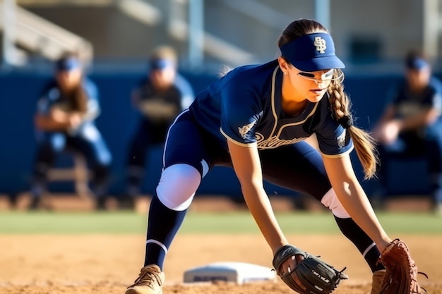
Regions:
M 273 251 L 287 245 L 263 180 L 312 195 L 335 216 L 381 283 L 378 259 L 392 241 L 362 190 L 350 161 L 356 149 L 366 178 L 374 176 L 371 137 L 353 125 L 343 91 L 344 68 L 320 23 L 296 20 L 278 41 L 281 56 L 230 71 L 198 94 L 169 128 L 160 182 L 150 204 L 144 267 L 126 294 L 162 293 L 167 250 L 201 180 L 213 166 L 231 166 L 247 206 Z M 318 138 L 320 151 L 304 140 Z M 294 269 L 289 259 L 284 269 Z

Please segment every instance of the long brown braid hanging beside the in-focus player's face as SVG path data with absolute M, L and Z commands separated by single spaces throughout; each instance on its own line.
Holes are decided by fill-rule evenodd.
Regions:
M 335 75 L 338 73 L 335 72 Z M 328 94 L 330 94 L 330 105 L 334 118 L 350 133 L 357 157 L 364 169 L 364 179 L 372 178 L 376 173 L 378 161 L 374 138 L 366 131 L 353 125 L 350 97 L 344 92 L 342 80 L 330 82 Z

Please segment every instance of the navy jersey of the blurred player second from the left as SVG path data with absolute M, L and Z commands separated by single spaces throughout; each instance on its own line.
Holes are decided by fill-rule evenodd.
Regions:
M 138 85 L 138 110 L 151 121 L 171 123 L 173 119 L 195 99 L 189 82 L 177 74 L 171 87 L 156 90 L 150 79 L 142 80 Z

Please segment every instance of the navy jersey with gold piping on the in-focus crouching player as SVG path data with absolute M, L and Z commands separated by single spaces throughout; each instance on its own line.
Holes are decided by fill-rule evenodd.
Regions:
M 227 141 L 273 149 L 318 137 L 325 156 L 353 148 L 347 131 L 332 118 L 328 94 L 299 116 L 286 116 L 281 106 L 282 71 L 277 61 L 241 66 L 213 82 L 191 104 L 196 121 L 227 149 Z

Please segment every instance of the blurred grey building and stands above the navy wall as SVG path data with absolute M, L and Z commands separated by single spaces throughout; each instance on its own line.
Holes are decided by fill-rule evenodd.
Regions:
M 66 49 L 95 61 L 144 59 L 151 48 L 167 43 L 187 66 L 236 66 L 275 58 L 277 38 L 297 18 L 316 18 L 330 28 L 349 71 L 385 69 L 412 47 L 424 48 L 434 61 L 442 55 L 442 0 L 1 2 L 2 54 L 10 61 L 52 59 Z M 20 50 L 4 53 L 11 46 Z

